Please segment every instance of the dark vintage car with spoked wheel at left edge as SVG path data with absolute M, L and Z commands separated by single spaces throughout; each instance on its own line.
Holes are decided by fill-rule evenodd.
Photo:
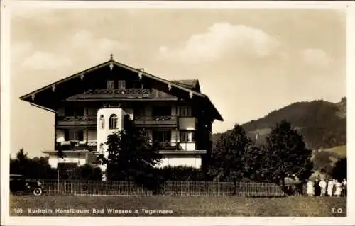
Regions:
M 26 179 L 19 174 L 10 174 L 10 192 L 32 193 L 34 196 L 40 196 L 43 193 L 43 188 L 40 181 Z

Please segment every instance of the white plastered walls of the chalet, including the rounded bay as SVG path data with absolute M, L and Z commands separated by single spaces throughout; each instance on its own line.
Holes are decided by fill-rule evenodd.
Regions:
M 166 106 L 166 103 L 158 103 L 158 106 Z M 196 151 L 196 142 L 193 138 L 193 133 L 197 130 L 197 118 L 190 115 L 191 109 L 184 107 L 183 111 L 185 112 L 182 117 L 178 118 L 178 128 L 146 128 L 146 132 L 150 140 L 153 140 L 153 130 L 155 131 L 170 131 L 171 137 L 169 141 L 171 142 L 172 147 L 176 147 L 177 142 L 179 145 L 180 153 L 179 154 L 163 154 L 163 159 L 161 160 L 158 167 L 164 166 L 191 166 L 195 168 L 200 168 L 202 164 L 202 159 L 200 154 L 192 154 Z M 97 154 L 104 154 L 107 157 L 107 137 L 112 132 L 119 132 L 124 129 L 124 117 L 129 115 L 131 120 L 134 120 L 134 112 L 131 108 L 88 108 L 87 113 L 89 115 L 97 115 L 97 128 L 96 129 L 70 129 L 70 138 L 77 137 L 77 131 L 84 131 L 83 140 L 79 140 L 79 144 L 85 144 L 86 142 L 94 143 L 97 145 Z M 171 105 L 171 115 L 179 116 L 182 113 L 182 109 L 176 106 L 175 104 Z M 62 113 L 64 114 L 64 113 Z M 61 115 L 62 115 L 61 114 Z M 137 115 L 141 116 L 151 116 L 152 115 L 152 106 L 144 106 Z M 70 141 L 65 141 L 65 130 L 58 129 L 56 130 L 56 140 L 62 144 L 66 144 Z M 74 139 L 75 140 L 75 139 Z M 165 142 L 166 143 L 166 142 Z M 187 152 L 182 154 L 181 152 Z M 190 152 L 190 153 L 189 153 Z M 48 153 L 49 154 L 49 153 Z M 58 166 L 59 162 L 77 162 L 78 165 L 84 165 L 87 163 L 92 163 L 92 159 L 88 158 L 87 155 L 73 153 L 65 153 L 66 157 L 64 159 L 58 159 L 55 154 L 50 154 L 49 164 L 53 167 Z M 92 153 L 89 153 L 93 155 Z M 104 172 L 106 170 L 105 165 L 101 165 L 100 168 Z M 105 179 L 105 177 L 104 177 Z

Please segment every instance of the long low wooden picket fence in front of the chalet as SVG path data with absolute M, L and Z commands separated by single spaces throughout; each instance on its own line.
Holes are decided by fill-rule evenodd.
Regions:
M 258 182 L 236 182 L 234 186 L 233 182 L 165 181 L 153 190 L 137 186 L 131 181 L 40 180 L 40 182 L 45 194 L 80 196 L 285 196 L 277 184 Z M 301 193 L 302 191 L 297 191 L 293 195 Z

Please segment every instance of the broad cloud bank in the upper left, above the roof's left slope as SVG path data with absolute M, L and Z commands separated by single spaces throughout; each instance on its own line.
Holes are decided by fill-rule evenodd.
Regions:
M 59 67 L 81 67 L 72 55 L 85 56 L 89 62 L 102 62 L 111 53 L 120 53 L 126 47 L 119 41 L 93 35 L 89 30 L 77 30 L 73 35 L 56 43 L 53 51 L 38 50 L 31 42 L 16 43 L 11 48 L 11 59 L 22 64 L 22 69 L 58 69 Z

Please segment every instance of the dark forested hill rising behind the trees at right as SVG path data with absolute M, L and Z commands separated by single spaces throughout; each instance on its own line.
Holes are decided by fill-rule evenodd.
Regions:
M 346 98 L 339 103 L 327 101 L 297 102 L 243 125 L 249 137 L 258 134 L 258 143 L 281 120 L 288 120 L 305 137 L 311 149 L 346 145 Z M 214 140 L 221 133 L 214 134 Z

